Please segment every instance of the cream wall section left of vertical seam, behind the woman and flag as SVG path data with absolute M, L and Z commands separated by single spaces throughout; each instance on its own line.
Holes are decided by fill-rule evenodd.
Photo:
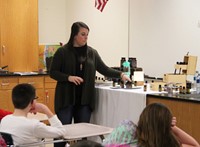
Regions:
M 119 66 L 128 56 L 128 0 L 110 0 L 101 13 L 95 0 L 39 0 L 40 44 L 66 43 L 71 25 L 90 27 L 88 45 L 98 50 L 108 66 Z

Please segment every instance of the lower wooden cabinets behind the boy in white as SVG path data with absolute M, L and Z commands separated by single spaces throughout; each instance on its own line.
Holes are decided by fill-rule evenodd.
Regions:
M 13 111 L 12 89 L 19 83 L 29 83 L 36 89 L 37 101 L 47 105 L 54 112 L 56 81 L 48 75 L 0 77 L 0 108 Z

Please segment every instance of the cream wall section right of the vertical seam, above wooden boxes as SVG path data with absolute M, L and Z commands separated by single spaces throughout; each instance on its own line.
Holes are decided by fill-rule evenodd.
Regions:
M 131 0 L 130 55 L 146 74 L 173 73 L 184 55 L 200 55 L 199 0 Z M 199 67 L 200 56 L 197 69 Z

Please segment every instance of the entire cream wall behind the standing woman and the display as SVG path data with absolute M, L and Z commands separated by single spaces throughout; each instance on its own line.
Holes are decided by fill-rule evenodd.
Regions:
M 84 21 L 91 30 L 88 44 L 109 66 L 129 54 L 145 74 L 162 77 L 187 52 L 200 55 L 199 0 L 109 0 L 103 13 L 94 2 L 39 0 L 40 43 L 67 42 L 71 24 Z M 199 63 L 200 57 L 197 70 Z

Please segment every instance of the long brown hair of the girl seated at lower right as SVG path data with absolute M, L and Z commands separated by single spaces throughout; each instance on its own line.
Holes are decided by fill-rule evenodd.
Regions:
M 148 147 L 179 147 L 171 131 L 172 113 L 163 104 L 149 104 L 141 113 L 137 137 L 141 146 Z

